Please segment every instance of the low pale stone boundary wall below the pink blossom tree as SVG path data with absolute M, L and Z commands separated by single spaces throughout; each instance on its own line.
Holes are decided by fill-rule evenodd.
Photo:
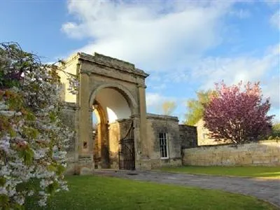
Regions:
M 280 166 L 280 141 L 250 144 L 198 146 L 183 150 L 183 165 L 262 165 Z

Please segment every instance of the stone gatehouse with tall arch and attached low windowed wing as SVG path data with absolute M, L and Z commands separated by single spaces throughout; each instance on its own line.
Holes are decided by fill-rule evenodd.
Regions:
M 61 67 L 80 83 L 78 94 L 71 94 L 61 74 L 63 119 L 76 132 L 68 152 L 69 174 L 181 165 L 182 148 L 197 145 L 194 127 L 179 125 L 176 117 L 146 113 L 148 74 L 134 64 L 78 52 Z

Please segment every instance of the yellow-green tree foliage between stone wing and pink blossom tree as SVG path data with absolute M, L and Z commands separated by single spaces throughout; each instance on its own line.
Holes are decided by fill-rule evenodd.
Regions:
M 190 99 L 187 102 L 188 113 L 186 114 L 186 125 L 195 125 L 203 116 L 204 107 L 202 104 L 208 104 L 211 96 L 214 96 L 216 92 L 214 90 L 196 92 L 197 99 Z

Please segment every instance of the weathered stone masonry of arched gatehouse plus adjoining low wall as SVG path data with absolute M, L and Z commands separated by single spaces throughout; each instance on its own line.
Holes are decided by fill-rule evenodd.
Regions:
M 179 125 L 178 118 L 173 116 L 146 113 L 148 74 L 134 64 L 97 53 L 77 53 L 67 59 L 62 68 L 80 80 L 78 94 L 72 95 L 67 91 L 69 83 L 64 74 L 61 75 L 65 102 L 62 120 L 76 132 L 76 136 L 69 139 L 69 174 L 88 174 L 94 168 L 118 169 L 120 139 L 131 125 L 134 127 L 135 169 L 180 166 L 182 160 L 183 165 L 280 165 L 279 141 L 197 146 L 197 133 L 202 137 L 204 130 Z M 114 113 L 113 119 L 109 111 Z M 95 132 L 93 112 L 99 116 Z M 167 136 L 168 155 L 163 158 L 160 133 Z M 209 143 L 213 142 L 203 144 Z

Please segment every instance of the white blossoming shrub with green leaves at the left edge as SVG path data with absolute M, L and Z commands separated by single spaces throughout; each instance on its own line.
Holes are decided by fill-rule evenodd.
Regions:
M 32 195 L 45 206 L 51 193 L 67 190 L 73 132 L 59 120 L 59 71 L 16 43 L 0 44 L 0 209 L 24 209 Z M 76 93 L 75 76 L 67 76 Z

